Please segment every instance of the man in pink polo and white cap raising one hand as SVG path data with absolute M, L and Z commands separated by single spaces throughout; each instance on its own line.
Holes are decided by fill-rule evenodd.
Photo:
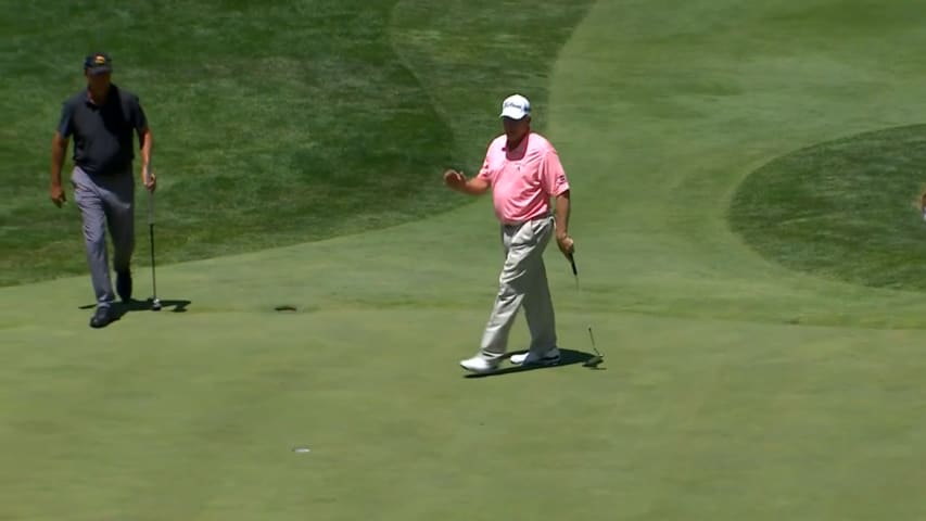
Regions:
M 531 345 L 515 355 L 516 365 L 559 363 L 556 320 L 547 284 L 543 253 L 550 237 L 565 255 L 574 251 L 569 237 L 569 180 L 556 149 L 543 136 L 531 131 L 531 103 L 515 94 L 502 103 L 505 134 L 495 138 L 475 177 L 457 170 L 444 173 L 444 182 L 454 190 L 481 195 L 492 190 L 495 216 L 502 224 L 505 264 L 498 278 L 495 306 L 482 335 L 480 352 L 460 361 L 473 372 L 494 371 L 508 351 L 508 334 L 521 305 Z M 551 213 L 550 199 L 556 200 Z

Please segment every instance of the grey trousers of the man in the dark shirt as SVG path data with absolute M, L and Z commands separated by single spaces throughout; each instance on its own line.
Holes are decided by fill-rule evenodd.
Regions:
M 135 176 L 90 176 L 75 167 L 71 176 L 74 200 L 84 220 L 87 264 L 98 306 L 115 301 L 110 279 L 106 228 L 113 240 L 113 269 L 129 269 L 135 250 Z

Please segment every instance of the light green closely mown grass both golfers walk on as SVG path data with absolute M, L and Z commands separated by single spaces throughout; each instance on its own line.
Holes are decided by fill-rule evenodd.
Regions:
M 532 26 L 429 5 L 395 4 L 389 41 L 478 157 L 509 54 L 458 43 Z M 102 331 L 77 309 L 84 274 L 3 289 L 0 519 L 926 517 L 926 295 L 795 269 L 735 217 L 741 187 L 774 193 L 776 160 L 926 120 L 924 9 L 599 0 L 545 53 L 523 80 L 548 93 L 535 118 L 571 177 L 582 284 L 549 251 L 560 340 L 589 352 L 591 325 L 605 370 L 464 378 L 500 263 L 486 199 L 164 266 L 172 304 Z M 449 74 L 462 63 L 481 81 Z M 879 215 L 910 218 L 910 196 Z

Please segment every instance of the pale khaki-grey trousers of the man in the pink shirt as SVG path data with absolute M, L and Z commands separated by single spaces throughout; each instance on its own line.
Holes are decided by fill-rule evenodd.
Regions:
M 556 347 L 556 320 L 543 258 L 553 230 L 553 217 L 502 226 L 505 264 L 498 277 L 495 305 L 482 335 L 483 358 L 495 360 L 505 355 L 508 334 L 521 305 L 531 332 L 530 350 L 546 353 Z

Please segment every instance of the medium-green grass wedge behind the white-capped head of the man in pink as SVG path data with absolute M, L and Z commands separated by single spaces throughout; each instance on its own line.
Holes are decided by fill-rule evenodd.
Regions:
M 452 129 L 459 168 L 472 173 L 481 166 L 486 144 L 502 131 L 500 102 L 513 92 L 530 98 L 532 126 L 547 128 L 551 68 L 594 3 L 536 9 L 522 0 L 477 0 L 434 9 L 420 0 L 396 2 L 393 48 Z

